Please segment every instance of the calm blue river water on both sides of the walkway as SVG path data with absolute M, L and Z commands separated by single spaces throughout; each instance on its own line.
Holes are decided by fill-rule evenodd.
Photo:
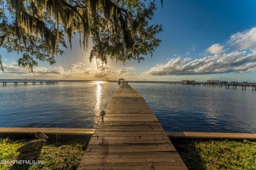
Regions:
M 166 131 L 256 133 L 256 91 L 129 82 Z M 94 128 L 117 82 L 0 83 L 0 127 Z

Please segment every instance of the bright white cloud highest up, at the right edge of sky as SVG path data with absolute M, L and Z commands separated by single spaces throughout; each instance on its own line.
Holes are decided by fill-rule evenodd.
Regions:
M 237 32 L 230 37 L 228 44 L 235 46 L 239 50 L 245 50 L 256 47 L 256 27 Z

